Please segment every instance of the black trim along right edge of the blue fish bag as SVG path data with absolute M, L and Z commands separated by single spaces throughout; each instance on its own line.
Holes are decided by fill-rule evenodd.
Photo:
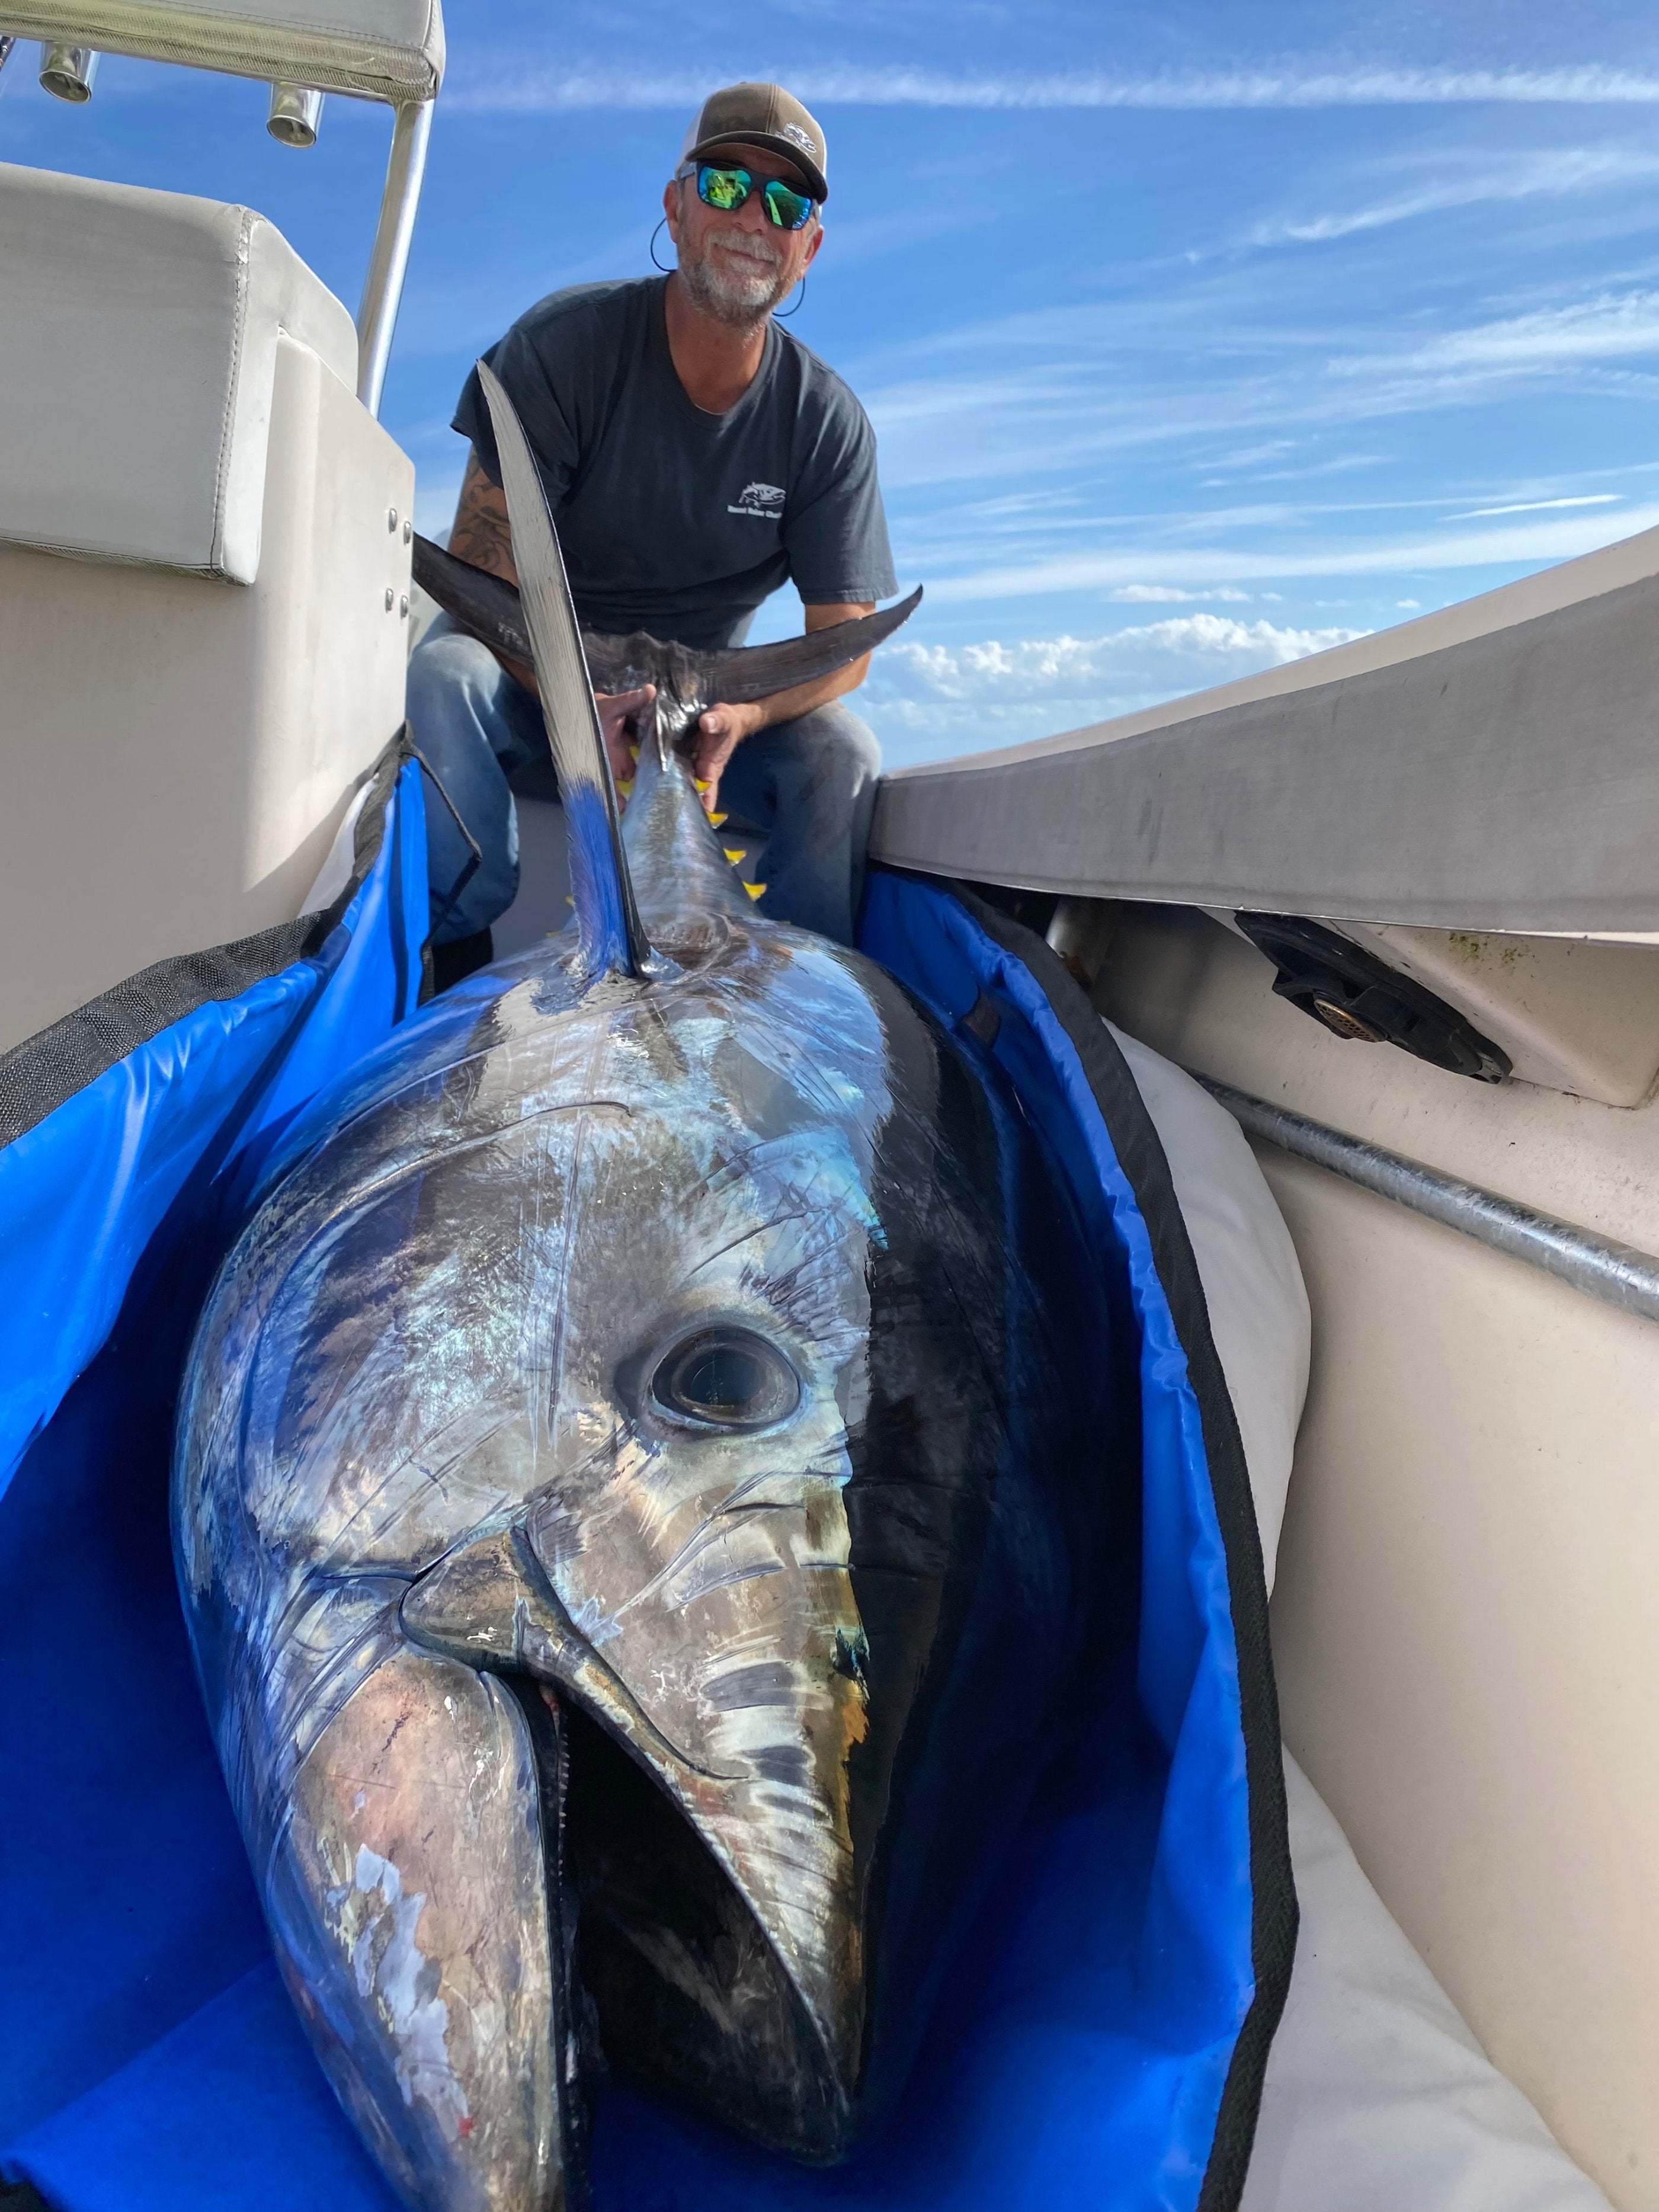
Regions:
M 1210 1307 L 1186 1221 L 1175 1201 L 1170 1164 L 1117 1040 L 1091 1006 L 1082 984 L 1040 936 L 1000 914 L 964 883 L 920 880 L 931 880 L 936 889 L 949 889 L 987 938 L 1024 962 L 1042 984 L 1055 1020 L 1082 1062 L 1117 1159 L 1135 1190 L 1152 1241 L 1152 1263 L 1164 1296 L 1170 1301 L 1192 1391 L 1199 1400 L 1210 1491 L 1228 1553 L 1232 1635 L 1239 1648 L 1239 1708 L 1250 1794 L 1250 1958 L 1256 1973 L 1256 1995 L 1232 2048 L 1197 2212 L 1234 2212 L 1256 2139 L 1267 2051 L 1285 2008 L 1290 1969 L 1296 1958 L 1296 1882 L 1290 1867 L 1279 1690 L 1267 1641 L 1267 1582 L 1239 1418 L 1210 1334 Z

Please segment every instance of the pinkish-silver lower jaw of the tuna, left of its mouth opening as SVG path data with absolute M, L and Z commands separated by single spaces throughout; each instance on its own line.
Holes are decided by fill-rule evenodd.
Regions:
M 557 1876 L 513 1690 L 403 1650 L 294 1781 L 268 1909 L 316 2055 L 418 2212 L 562 2212 L 580 2128 Z

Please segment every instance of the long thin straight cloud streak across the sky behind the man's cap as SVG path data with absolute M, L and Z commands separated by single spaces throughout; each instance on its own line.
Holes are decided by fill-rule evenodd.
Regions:
M 1221 69 L 1210 73 L 847 69 L 792 60 L 790 86 L 810 104 L 920 108 L 1349 108 L 1571 104 L 1657 106 L 1659 75 L 1635 69 Z M 456 115 L 557 115 L 577 108 L 690 113 L 708 93 L 708 69 L 584 69 L 535 53 L 476 53 L 451 71 L 445 108 Z

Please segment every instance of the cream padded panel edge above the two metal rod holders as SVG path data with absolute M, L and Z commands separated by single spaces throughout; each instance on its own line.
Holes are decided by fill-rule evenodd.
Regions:
M 445 73 L 438 0 L 20 0 L 18 38 L 312 84 L 365 100 L 434 100 Z

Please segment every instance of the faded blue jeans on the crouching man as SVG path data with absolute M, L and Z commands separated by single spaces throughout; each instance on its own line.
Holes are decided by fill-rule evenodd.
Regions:
M 540 703 L 445 615 L 409 657 L 409 728 L 427 770 L 431 933 L 453 945 L 518 896 L 513 787 L 555 796 L 546 728 Z M 748 841 L 761 914 L 852 945 L 878 772 L 876 739 L 838 701 L 743 739 L 721 776 L 721 836 Z

